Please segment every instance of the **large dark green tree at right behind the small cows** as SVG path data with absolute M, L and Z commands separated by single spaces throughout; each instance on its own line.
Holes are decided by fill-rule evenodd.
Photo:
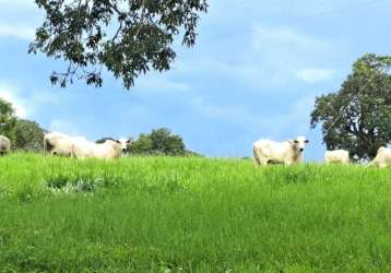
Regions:
M 322 127 L 328 150 L 346 149 L 355 159 L 370 159 L 391 141 L 390 56 L 367 54 L 336 93 L 316 98 L 311 127 Z

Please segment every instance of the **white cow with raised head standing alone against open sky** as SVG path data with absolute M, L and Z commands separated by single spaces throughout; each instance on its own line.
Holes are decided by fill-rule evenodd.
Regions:
M 285 165 L 298 164 L 303 161 L 303 152 L 309 141 L 305 136 L 284 142 L 259 140 L 253 143 L 253 155 L 258 165 L 280 162 Z

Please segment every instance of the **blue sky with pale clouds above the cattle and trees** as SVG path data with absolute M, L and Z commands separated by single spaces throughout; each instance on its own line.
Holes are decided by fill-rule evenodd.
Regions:
M 168 72 L 135 86 L 51 86 L 64 63 L 28 55 L 43 13 L 33 0 L 0 0 L 0 97 L 43 128 L 90 140 L 166 127 L 188 149 L 213 157 L 252 155 L 259 139 L 306 135 L 320 161 L 315 97 L 335 92 L 366 52 L 391 55 L 391 0 L 210 0 L 193 48 L 176 46 Z

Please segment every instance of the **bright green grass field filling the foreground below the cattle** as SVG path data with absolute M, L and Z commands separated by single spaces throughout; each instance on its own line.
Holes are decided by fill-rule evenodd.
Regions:
M 13 154 L 0 272 L 391 272 L 391 169 Z

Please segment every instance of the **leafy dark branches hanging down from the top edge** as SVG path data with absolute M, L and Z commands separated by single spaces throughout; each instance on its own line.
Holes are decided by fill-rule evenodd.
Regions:
M 200 13 L 206 0 L 35 0 L 46 20 L 36 29 L 29 52 L 68 62 L 50 81 L 64 87 L 75 79 L 102 86 L 103 68 L 130 88 L 151 69 L 170 69 L 175 37 L 196 43 Z

